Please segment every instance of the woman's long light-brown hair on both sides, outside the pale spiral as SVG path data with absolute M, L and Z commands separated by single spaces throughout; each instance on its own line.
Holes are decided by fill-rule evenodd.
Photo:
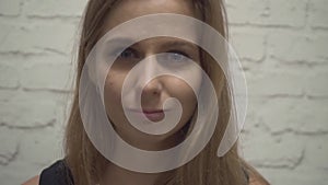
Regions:
M 90 0 L 82 18 L 73 103 L 65 135 L 65 159 L 72 173 L 74 184 L 78 185 L 91 185 L 97 182 L 107 163 L 107 160 L 91 143 L 84 130 L 79 109 L 79 83 L 86 57 L 102 36 L 101 27 L 104 19 L 117 1 L 119 0 Z M 192 0 L 192 3 L 201 13 L 201 21 L 214 27 L 227 39 L 227 21 L 222 0 Z M 212 62 L 213 59 L 204 51 L 201 51 L 201 67 L 215 88 L 220 116 L 209 143 L 195 159 L 178 167 L 167 184 L 246 184 L 243 170 L 246 163 L 238 155 L 237 142 L 224 157 L 216 157 L 219 143 L 229 123 L 231 103 L 222 69 Z

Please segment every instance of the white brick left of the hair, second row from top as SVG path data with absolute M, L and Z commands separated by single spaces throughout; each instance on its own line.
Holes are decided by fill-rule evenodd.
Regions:
M 8 32 L 2 33 L 0 51 L 42 54 L 50 50 L 70 55 L 77 27 L 74 24 L 57 23 L 32 24 L 28 27 L 3 25 Z

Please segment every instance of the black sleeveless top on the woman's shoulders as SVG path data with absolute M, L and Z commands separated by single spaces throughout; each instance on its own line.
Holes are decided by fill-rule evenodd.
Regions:
M 245 170 L 244 172 L 248 184 L 249 176 Z M 56 161 L 42 171 L 39 185 L 74 185 L 71 171 L 66 164 L 65 159 Z

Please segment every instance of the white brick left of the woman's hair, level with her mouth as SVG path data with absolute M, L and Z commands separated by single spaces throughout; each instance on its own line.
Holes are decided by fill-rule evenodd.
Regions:
M 0 123 L 12 129 L 51 127 L 62 122 L 62 99 L 45 92 L 13 93 L 11 99 L 0 102 Z

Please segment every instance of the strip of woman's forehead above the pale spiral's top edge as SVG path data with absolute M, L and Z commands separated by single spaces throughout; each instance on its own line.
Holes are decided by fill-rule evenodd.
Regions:
M 197 18 L 192 0 L 118 0 L 105 19 L 104 32 L 134 18 L 154 13 Z

